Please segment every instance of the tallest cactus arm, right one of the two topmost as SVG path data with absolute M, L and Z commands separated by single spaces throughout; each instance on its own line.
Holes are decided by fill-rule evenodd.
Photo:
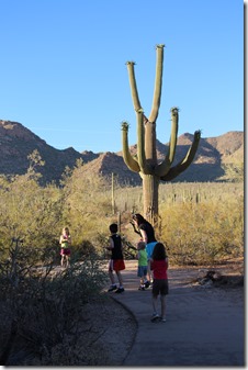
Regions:
M 156 76 L 155 76 L 155 88 L 154 88 L 154 101 L 153 108 L 149 115 L 149 122 L 156 122 L 158 116 L 158 111 L 160 106 L 161 88 L 162 88 L 162 63 L 164 63 L 164 46 L 157 45 L 157 63 L 156 63 Z

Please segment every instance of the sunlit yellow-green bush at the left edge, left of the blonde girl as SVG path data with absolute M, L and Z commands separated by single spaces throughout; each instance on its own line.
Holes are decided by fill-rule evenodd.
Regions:
M 61 197 L 55 186 L 42 188 L 29 176 L 18 176 L 0 187 L 0 245 L 11 238 L 44 248 L 54 243 L 60 226 Z

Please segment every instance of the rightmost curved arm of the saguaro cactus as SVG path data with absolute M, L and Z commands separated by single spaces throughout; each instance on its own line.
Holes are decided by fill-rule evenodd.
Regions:
M 191 147 L 189 148 L 185 157 L 178 165 L 176 165 L 174 167 L 171 167 L 167 175 L 161 176 L 160 177 L 161 181 L 173 180 L 177 176 L 179 176 L 190 166 L 190 164 L 194 159 L 195 153 L 199 147 L 200 139 L 201 139 L 201 131 L 195 131 L 193 143 Z

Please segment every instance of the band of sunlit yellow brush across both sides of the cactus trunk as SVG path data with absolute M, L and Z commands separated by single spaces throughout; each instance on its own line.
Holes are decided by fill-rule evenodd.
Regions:
M 133 212 L 143 213 L 142 187 L 115 184 L 113 212 L 111 184 L 103 178 L 82 176 L 82 166 L 78 161 L 72 170 L 66 170 L 60 187 L 40 187 L 32 171 L 11 180 L 1 177 L 0 247 L 8 246 L 13 237 L 23 238 L 26 247 L 54 250 L 54 262 L 59 264 L 58 238 L 67 225 L 72 236 L 72 255 L 83 256 L 83 249 L 89 249 L 104 258 L 102 246 L 109 237 L 109 225 L 117 222 L 127 240 L 125 257 L 131 258 L 128 243 L 135 245 L 137 235 L 129 217 Z M 243 202 L 241 182 L 160 184 L 157 237 L 169 238 L 173 259 L 181 264 L 240 255 Z

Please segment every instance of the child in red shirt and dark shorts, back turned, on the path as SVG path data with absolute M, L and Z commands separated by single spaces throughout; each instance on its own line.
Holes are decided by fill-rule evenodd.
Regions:
M 154 251 L 150 260 L 150 268 L 154 271 L 154 283 L 153 283 L 153 309 L 154 314 L 151 322 L 161 321 L 166 322 L 166 295 L 169 293 L 168 287 L 168 257 L 166 254 L 166 248 L 162 243 L 157 243 L 154 247 Z M 161 316 L 157 313 L 158 295 L 160 294 L 161 302 Z

